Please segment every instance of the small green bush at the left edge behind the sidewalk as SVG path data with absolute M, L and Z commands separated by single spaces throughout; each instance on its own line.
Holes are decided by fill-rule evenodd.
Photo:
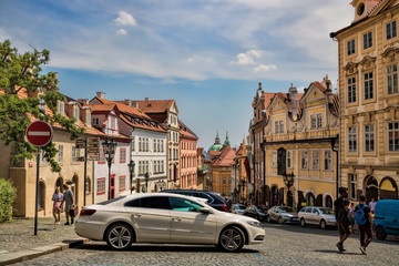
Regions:
M 10 221 L 12 217 L 12 204 L 17 196 L 17 190 L 8 180 L 0 178 L 0 223 Z

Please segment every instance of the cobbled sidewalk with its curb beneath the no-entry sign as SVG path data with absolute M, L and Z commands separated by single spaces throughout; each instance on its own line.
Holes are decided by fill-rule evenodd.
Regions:
M 74 232 L 73 225 L 54 224 L 54 218 L 13 218 L 0 224 L 0 266 L 32 259 L 44 254 L 63 250 L 86 243 Z

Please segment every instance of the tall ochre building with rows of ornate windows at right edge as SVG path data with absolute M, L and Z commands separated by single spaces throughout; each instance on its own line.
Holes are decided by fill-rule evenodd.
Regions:
M 340 185 L 349 198 L 398 198 L 399 3 L 354 0 L 355 19 L 338 42 Z

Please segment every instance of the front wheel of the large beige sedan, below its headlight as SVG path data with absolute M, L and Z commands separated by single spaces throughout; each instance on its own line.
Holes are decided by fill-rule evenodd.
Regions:
M 225 252 L 238 252 L 243 248 L 245 235 L 236 226 L 229 226 L 222 231 L 218 247 Z

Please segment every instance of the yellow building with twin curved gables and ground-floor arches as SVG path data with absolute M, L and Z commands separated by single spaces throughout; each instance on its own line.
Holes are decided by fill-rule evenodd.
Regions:
M 331 207 L 337 195 L 339 119 L 329 80 L 313 82 L 304 94 L 296 88 L 275 93 L 266 120 L 265 204 Z

